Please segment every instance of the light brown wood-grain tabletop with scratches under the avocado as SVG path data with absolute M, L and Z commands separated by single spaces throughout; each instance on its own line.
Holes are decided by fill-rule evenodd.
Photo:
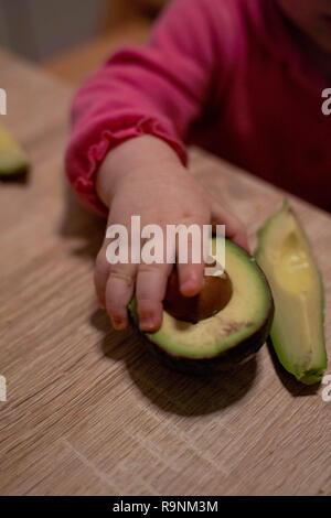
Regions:
M 235 375 L 192 379 L 161 367 L 132 331 L 111 330 L 92 281 L 105 224 L 63 174 L 72 90 L 3 52 L 0 69 L 3 121 L 32 161 L 29 183 L 0 185 L 0 493 L 331 494 L 323 386 L 296 384 L 267 347 Z M 282 193 L 197 150 L 192 170 L 254 245 Z M 331 356 L 331 218 L 292 203 L 323 273 Z

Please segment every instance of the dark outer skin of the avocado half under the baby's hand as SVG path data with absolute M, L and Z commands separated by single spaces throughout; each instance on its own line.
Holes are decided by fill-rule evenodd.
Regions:
M 248 256 L 246 251 L 245 253 Z M 247 336 L 244 341 L 239 342 L 237 345 L 231 347 L 227 350 L 222 350 L 215 356 L 190 358 L 188 356 L 172 355 L 159 344 L 154 343 L 150 336 L 139 330 L 137 319 L 131 307 L 129 306 L 130 321 L 138 330 L 138 333 L 142 338 L 142 343 L 146 345 L 147 349 L 152 353 L 153 356 L 156 356 L 166 367 L 193 376 L 206 376 L 232 370 L 237 365 L 248 360 L 261 348 L 267 337 L 269 336 L 273 325 L 275 305 L 271 290 L 263 270 L 258 265 L 256 265 L 256 268 L 260 271 L 260 274 L 264 278 L 268 289 L 268 311 L 266 319 L 264 320 L 260 327 Z

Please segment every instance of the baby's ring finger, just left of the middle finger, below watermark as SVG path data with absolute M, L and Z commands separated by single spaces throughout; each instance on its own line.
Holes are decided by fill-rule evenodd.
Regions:
M 115 330 L 128 327 L 127 306 L 132 299 L 137 265 L 114 265 L 106 285 L 106 310 Z

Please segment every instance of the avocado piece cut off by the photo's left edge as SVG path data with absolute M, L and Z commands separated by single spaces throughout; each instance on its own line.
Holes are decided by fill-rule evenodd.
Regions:
M 24 174 L 29 160 L 22 148 L 13 140 L 7 129 L 0 126 L 0 177 L 9 180 Z

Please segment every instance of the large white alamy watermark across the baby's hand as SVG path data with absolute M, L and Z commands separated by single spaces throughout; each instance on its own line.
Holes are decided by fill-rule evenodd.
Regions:
M 106 238 L 111 242 L 107 246 L 106 258 L 110 265 L 188 265 L 203 260 L 205 276 L 218 276 L 225 269 L 225 240 L 212 241 L 212 225 L 196 224 L 166 227 L 150 224 L 141 228 L 140 216 L 131 216 L 129 231 L 119 224 L 107 228 Z M 225 236 L 225 225 L 216 225 L 216 235 Z

